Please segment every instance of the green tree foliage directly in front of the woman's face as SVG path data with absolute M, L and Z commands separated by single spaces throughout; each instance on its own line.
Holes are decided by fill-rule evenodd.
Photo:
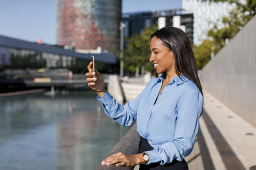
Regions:
M 126 39 L 127 48 L 124 50 L 124 68 L 131 73 L 136 71 L 136 66 L 145 66 L 147 71 L 153 71 L 153 66 L 149 62 L 150 41 L 149 38 L 153 32 L 158 29 L 157 25 L 147 27 L 141 34 L 134 34 Z

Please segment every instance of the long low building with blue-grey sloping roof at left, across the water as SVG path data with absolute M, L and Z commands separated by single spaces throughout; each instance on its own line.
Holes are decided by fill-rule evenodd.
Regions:
M 78 61 L 89 62 L 91 55 L 96 62 L 116 63 L 114 53 L 78 53 L 58 45 L 37 44 L 0 35 L 0 69 L 39 69 L 77 67 Z M 84 69 L 84 66 L 82 66 Z

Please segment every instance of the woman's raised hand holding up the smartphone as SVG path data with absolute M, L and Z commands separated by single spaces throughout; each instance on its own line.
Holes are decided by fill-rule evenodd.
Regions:
M 95 69 L 95 73 L 93 72 L 92 69 L 92 62 L 89 62 L 88 66 L 88 73 L 85 73 L 85 76 L 87 77 L 86 81 L 87 84 L 90 88 L 92 88 L 93 90 L 96 90 L 96 93 L 98 93 L 98 95 L 100 95 L 100 97 L 103 97 L 104 93 L 105 93 L 105 87 L 104 87 L 104 80 L 103 80 L 103 76 L 100 74 L 100 72 L 98 72 L 97 69 Z M 95 75 L 95 77 L 94 77 Z

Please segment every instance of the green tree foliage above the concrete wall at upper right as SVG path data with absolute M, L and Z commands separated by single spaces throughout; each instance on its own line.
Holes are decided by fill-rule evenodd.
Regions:
M 255 16 L 256 12 L 256 0 L 246 0 L 246 3 L 240 3 L 240 0 L 211 1 L 228 2 L 235 4 L 236 7 L 231 10 L 229 16 L 222 17 L 224 27 L 218 28 L 215 23 L 213 29 L 210 29 L 207 34 L 209 40 L 204 40 L 198 47 L 193 47 L 198 69 L 202 69 L 211 60 L 211 47 L 214 49 L 214 54 L 220 51 L 224 47 L 226 40 L 231 40 Z

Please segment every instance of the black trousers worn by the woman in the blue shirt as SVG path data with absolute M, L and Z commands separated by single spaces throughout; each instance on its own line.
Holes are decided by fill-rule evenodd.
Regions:
M 153 147 L 149 145 L 147 139 L 142 138 L 140 136 L 140 144 L 139 144 L 139 153 L 144 151 L 153 150 Z M 173 162 L 169 164 L 160 165 L 160 163 L 152 163 L 149 165 L 142 164 L 140 165 L 140 170 L 188 170 L 189 167 L 186 164 L 186 161 L 183 159 L 182 162 L 178 160 L 173 160 Z

